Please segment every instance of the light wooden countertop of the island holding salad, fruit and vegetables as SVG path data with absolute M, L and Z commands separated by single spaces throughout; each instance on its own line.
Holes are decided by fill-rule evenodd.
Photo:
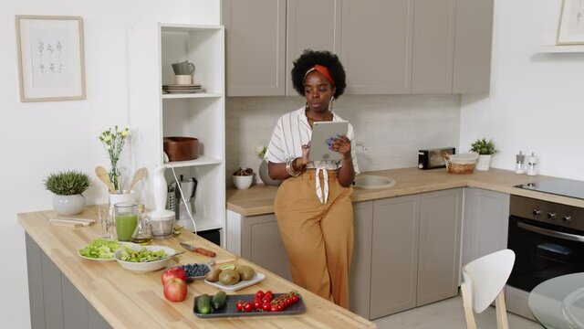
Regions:
M 214 294 L 218 290 L 203 281 L 189 284 L 184 302 L 168 302 L 162 293 L 161 271 L 136 274 L 126 271 L 117 262 L 84 260 L 77 250 L 99 236 L 99 224 L 87 228 L 52 226 L 48 219 L 56 216 L 54 211 L 18 214 L 18 222 L 26 233 L 67 276 L 68 280 L 93 305 L 114 328 L 374 328 L 375 324 L 357 314 L 328 302 L 312 292 L 282 279 L 244 259 L 233 261 L 247 264 L 266 274 L 266 279 L 235 293 L 255 293 L 257 290 L 302 294 L 306 312 L 297 315 L 267 315 L 254 317 L 230 317 L 201 319 L 193 314 L 194 297 L 202 293 Z M 96 218 L 96 207 L 86 207 L 76 217 Z M 183 232 L 172 239 L 155 239 L 153 244 L 182 250 L 179 240 L 191 241 L 193 245 L 214 250 L 215 260 L 232 260 L 235 255 L 191 232 Z M 196 253 L 185 253 L 172 260 L 176 263 L 206 262 L 210 259 Z

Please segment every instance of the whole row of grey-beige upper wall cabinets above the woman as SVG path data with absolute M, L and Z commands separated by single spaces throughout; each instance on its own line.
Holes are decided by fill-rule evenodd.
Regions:
M 493 1 L 224 0 L 227 95 L 295 95 L 306 48 L 339 54 L 347 94 L 488 92 Z

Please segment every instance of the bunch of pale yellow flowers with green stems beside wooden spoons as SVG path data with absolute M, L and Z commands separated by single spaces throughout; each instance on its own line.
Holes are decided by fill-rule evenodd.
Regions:
M 128 126 L 121 129 L 118 125 L 115 125 L 104 130 L 98 137 L 110 158 L 110 182 L 118 192 L 121 192 L 120 168 L 118 168 L 118 161 L 120 161 L 121 151 L 123 150 L 126 138 L 128 138 L 129 135 L 130 129 Z

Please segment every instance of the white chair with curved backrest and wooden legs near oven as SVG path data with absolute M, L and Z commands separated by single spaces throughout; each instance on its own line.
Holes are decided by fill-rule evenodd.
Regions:
M 503 288 L 509 279 L 514 262 L 515 252 L 503 249 L 464 265 L 464 282 L 461 286 L 461 292 L 463 293 L 466 328 L 476 329 L 474 313 L 485 311 L 495 298 L 496 327 L 498 329 L 509 328 Z

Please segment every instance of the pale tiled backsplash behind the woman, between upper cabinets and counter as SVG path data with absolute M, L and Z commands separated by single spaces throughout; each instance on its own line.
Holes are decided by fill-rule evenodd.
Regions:
M 257 172 L 255 147 L 269 142 L 278 117 L 304 105 L 302 97 L 231 97 L 226 104 L 226 178 L 239 166 Z M 460 96 L 352 96 L 335 101 L 334 111 L 355 128 L 360 171 L 411 167 L 417 150 L 457 146 Z M 467 150 L 462 150 L 465 152 Z M 457 150 L 458 152 L 458 150 Z M 256 179 L 259 181 L 258 176 Z

